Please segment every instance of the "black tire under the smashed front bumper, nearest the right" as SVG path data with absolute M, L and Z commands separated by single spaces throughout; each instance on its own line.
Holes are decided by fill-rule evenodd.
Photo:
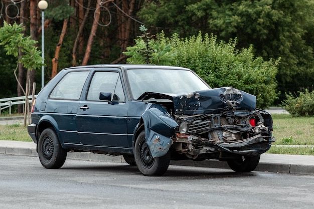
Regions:
M 236 172 L 251 172 L 259 163 L 260 155 L 227 160 L 229 167 Z

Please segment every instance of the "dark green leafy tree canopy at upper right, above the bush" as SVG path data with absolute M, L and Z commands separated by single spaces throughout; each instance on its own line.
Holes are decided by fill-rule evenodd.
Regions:
M 252 53 L 256 57 L 264 60 L 280 57 L 276 78 L 281 96 L 314 82 L 314 1 L 186 0 L 177 3 L 175 0 L 147 1 L 138 15 L 152 29 L 176 31 L 183 37 L 195 35 L 199 30 L 215 34 L 218 40 L 236 38 L 239 50 L 253 45 Z

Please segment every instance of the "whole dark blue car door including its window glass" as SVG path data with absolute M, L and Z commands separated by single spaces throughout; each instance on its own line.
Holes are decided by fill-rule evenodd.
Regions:
M 100 92 L 111 95 L 100 100 Z M 127 103 L 120 72 L 94 72 L 86 97 L 77 111 L 80 144 L 90 150 L 125 152 L 130 148 L 126 116 Z

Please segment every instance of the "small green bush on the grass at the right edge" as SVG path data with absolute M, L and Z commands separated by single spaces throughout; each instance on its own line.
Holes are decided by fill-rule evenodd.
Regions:
M 286 99 L 282 101 L 282 107 L 292 116 L 314 116 L 314 91 L 309 92 L 304 89 L 303 92 L 298 91 L 295 97 L 291 92 L 286 93 Z

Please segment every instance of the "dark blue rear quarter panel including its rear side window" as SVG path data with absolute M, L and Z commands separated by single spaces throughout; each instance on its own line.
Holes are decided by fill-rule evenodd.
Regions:
M 88 70 L 68 72 L 52 89 L 48 100 L 37 99 L 40 111 L 45 112 L 42 119 L 54 124 L 60 142 L 66 146 L 77 141 L 76 114 L 89 73 Z

